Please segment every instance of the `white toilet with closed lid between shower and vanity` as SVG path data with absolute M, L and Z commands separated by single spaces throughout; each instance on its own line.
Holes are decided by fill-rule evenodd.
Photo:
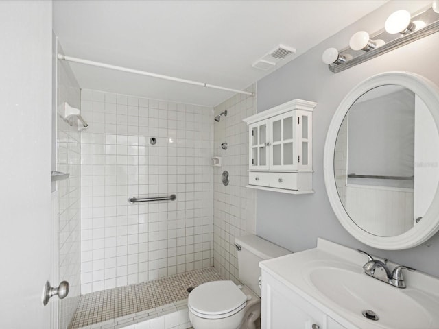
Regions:
M 261 269 L 259 262 L 291 254 L 256 235 L 235 238 L 239 280 L 200 284 L 189 293 L 187 306 L 194 329 L 254 329 L 261 315 Z

